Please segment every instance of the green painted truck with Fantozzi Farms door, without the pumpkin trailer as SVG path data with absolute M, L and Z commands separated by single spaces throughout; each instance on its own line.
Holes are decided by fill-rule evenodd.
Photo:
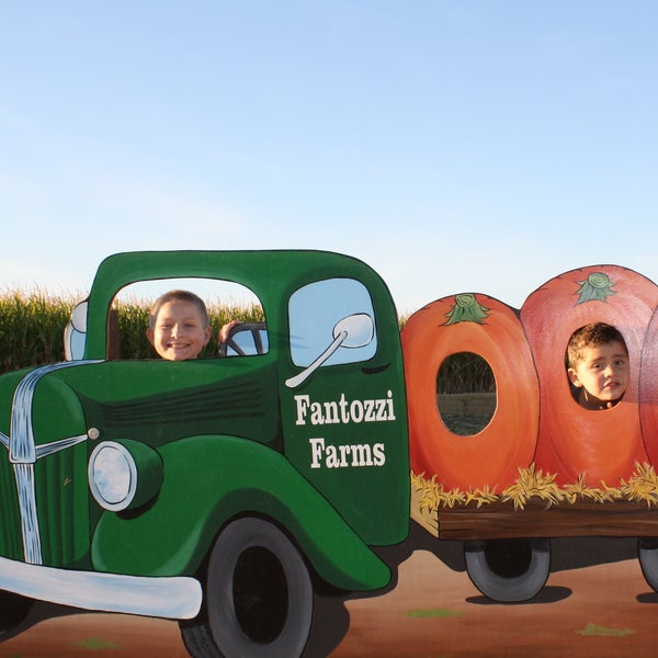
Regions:
M 264 322 L 218 358 L 113 359 L 116 294 L 170 277 L 239 283 Z M 193 656 L 296 656 L 318 582 L 389 582 L 375 551 L 408 533 L 407 404 L 396 309 L 367 265 L 120 253 L 65 340 L 67 361 L 0 378 L 0 589 L 16 603 L 178 619 Z

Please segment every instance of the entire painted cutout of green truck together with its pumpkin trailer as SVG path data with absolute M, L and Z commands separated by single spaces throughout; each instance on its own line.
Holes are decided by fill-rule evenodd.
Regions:
M 116 293 L 182 276 L 246 285 L 265 322 L 238 327 L 220 359 L 117 360 Z M 378 549 L 408 541 L 410 518 L 462 542 L 492 600 L 542 590 L 553 537 L 638 537 L 658 591 L 658 489 L 643 479 L 658 462 L 657 307 L 653 282 L 595 265 L 520 310 L 443 297 L 400 336 L 385 283 L 344 256 L 110 257 L 66 328 L 67 361 L 0 378 L 0 626 L 41 600 L 179 620 L 196 657 L 298 656 L 318 580 L 390 586 Z M 601 412 L 577 405 L 565 370 L 591 321 L 629 353 L 628 389 Z M 496 382 L 490 420 L 466 435 L 436 396 L 457 353 Z

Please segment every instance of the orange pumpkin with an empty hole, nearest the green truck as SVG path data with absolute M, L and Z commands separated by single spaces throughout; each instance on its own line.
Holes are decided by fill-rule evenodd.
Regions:
M 538 383 L 518 311 L 480 294 L 444 297 L 416 311 L 401 340 L 412 469 L 463 491 L 514 483 L 532 463 L 538 428 Z M 462 352 L 489 364 L 497 388 L 490 422 L 470 436 L 451 432 L 436 404 L 439 368 Z

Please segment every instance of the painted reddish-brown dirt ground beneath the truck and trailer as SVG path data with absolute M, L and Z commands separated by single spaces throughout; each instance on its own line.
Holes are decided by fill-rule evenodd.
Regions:
M 392 591 L 344 602 L 344 638 L 314 656 L 656 656 L 658 594 L 634 553 L 625 540 L 554 542 L 544 590 L 526 603 L 498 604 L 460 570 L 457 546 L 439 559 L 434 544 L 420 542 L 404 556 Z M 0 656 L 186 656 L 175 622 L 71 611 L 39 621 L 54 612 L 43 605 L 19 635 L 0 643 Z

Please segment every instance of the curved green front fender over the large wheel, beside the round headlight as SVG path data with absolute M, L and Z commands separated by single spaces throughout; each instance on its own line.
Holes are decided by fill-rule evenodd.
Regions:
M 190 576 L 227 521 L 256 514 L 287 531 L 331 585 L 350 591 L 388 585 L 388 567 L 274 450 L 235 436 L 204 435 L 159 452 L 164 476 L 157 498 L 145 509 L 102 514 L 92 537 L 94 568 Z

